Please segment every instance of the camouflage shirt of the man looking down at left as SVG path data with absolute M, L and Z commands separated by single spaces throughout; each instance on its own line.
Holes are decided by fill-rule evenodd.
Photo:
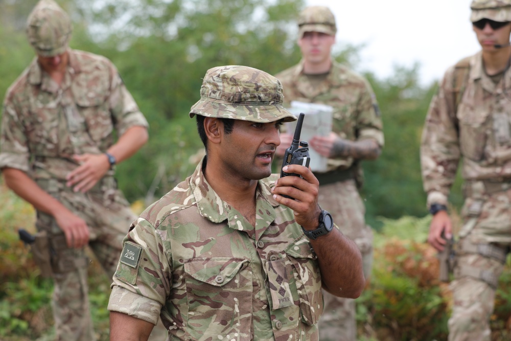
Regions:
M 0 168 L 64 180 L 77 166 L 73 154 L 105 152 L 114 142 L 115 129 L 121 136 L 132 126 L 147 126 L 108 59 L 67 51 L 69 64 L 60 86 L 34 59 L 9 88 Z

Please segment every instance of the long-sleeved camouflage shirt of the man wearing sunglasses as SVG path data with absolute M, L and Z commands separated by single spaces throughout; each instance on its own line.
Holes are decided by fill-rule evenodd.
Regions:
M 511 178 L 511 69 L 495 84 L 484 72 L 481 52 L 460 64 L 469 67 L 466 77 L 456 76 L 462 72 L 459 66 L 447 70 L 423 131 L 421 163 L 428 206 L 447 204 L 461 156 L 466 180 L 498 183 Z

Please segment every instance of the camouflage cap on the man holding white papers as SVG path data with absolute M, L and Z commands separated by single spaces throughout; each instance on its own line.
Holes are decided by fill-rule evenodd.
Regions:
M 298 35 L 303 37 L 305 32 L 320 32 L 335 35 L 335 17 L 328 7 L 310 6 L 301 11 L 298 17 Z

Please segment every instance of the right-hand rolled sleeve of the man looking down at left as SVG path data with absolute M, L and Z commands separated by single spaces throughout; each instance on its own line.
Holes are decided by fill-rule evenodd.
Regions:
M 146 118 L 138 109 L 117 68 L 111 62 L 109 64 L 111 73 L 109 106 L 119 135 L 133 126 L 147 127 Z

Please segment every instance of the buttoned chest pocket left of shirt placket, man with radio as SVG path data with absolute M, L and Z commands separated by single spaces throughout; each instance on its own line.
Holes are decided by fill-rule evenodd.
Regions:
M 252 319 L 252 271 L 239 258 L 184 261 L 188 298 L 185 333 L 197 340 L 249 339 Z M 183 316 L 184 317 L 184 316 Z

